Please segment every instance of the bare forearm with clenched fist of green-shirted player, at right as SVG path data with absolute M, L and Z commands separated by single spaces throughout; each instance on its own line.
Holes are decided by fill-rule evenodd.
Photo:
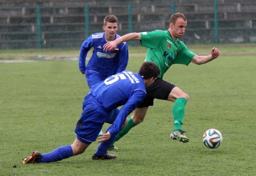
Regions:
M 217 48 L 213 47 L 210 55 L 206 55 L 206 56 L 195 55 L 191 61 L 192 63 L 201 65 L 216 59 L 219 55 L 220 55 L 220 51 Z

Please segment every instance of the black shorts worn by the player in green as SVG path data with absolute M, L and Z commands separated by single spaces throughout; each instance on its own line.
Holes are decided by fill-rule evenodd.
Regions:
M 163 80 L 162 78 L 157 78 L 153 84 L 146 88 L 147 96 L 138 105 L 137 108 L 145 108 L 148 106 L 153 106 L 154 98 L 159 100 L 167 100 L 172 89 L 176 87 L 174 84 Z

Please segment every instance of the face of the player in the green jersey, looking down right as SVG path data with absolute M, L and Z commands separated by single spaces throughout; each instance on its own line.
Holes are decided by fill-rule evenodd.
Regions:
M 174 39 L 183 37 L 185 33 L 185 28 L 187 27 L 187 22 L 182 18 L 178 18 L 175 24 L 170 23 L 170 28 L 174 36 Z

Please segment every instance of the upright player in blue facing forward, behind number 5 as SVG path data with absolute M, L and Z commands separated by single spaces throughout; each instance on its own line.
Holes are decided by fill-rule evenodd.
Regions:
M 104 18 L 104 32 L 94 33 L 82 43 L 79 55 L 79 70 L 85 74 L 89 88 L 105 80 L 108 76 L 122 72 L 128 63 L 128 46 L 126 42 L 116 46 L 114 51 L 104 51 L 103 45 L 118 39 L 118 19 L 114 15 Z M 87 66 L 85 63 L 88 51 L 94 47 Z

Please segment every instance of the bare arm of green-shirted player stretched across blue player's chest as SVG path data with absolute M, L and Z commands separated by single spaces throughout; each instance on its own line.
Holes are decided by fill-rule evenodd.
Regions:
M 104 51 L 114 51 L 116 46 L 125 41 L 131 40 L 140 40 L 140 33 L 128 33 L 123 35 L 122 37 L 115 39 L 114 41 L 110 41 L 103 46 Z

